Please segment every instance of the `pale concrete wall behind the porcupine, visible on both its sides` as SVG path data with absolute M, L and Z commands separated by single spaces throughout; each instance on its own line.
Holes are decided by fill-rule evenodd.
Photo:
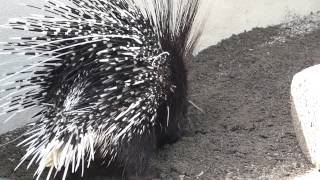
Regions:
M 307 15 L 311 11 L 320 10 L 319 0 L 205 0 L 210 6 L 210 16 L 204 35 L 197 51 L 214 45 L 232 34 L 238 34 L 253 27 L 266 27 L 279 24 L 290 19 L 290 15 Z M 39 4 L 41 0 L 0 0 L 0 24 L 9 17 L 26 16 L 34 13 L 33 9 L 19 6 L 20 2 Z M 204 12 L 204 10 L 202 11 Z M 16 32 L 0 29 L 0 41 L 6 41 L 8 36 L 19 36 Z M 20 58 L 7 57 L 5 58 Z M 3 72 L 0 67 L 0 72 Z M 22 114 L 18 118 L 3 124 L 0 122 L 0 134 L 25 124 L 29 115 Z

